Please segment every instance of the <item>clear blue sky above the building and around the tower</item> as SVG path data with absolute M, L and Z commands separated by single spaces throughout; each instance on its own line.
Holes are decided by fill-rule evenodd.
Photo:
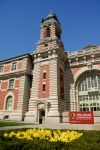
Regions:
M 100 45 L 100 0 L 0 0 L 0 60 L 32 52 L 51 9 L 66 51 Z

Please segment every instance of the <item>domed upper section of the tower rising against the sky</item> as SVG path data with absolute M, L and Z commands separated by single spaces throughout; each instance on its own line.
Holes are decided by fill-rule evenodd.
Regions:
M 42 19 L 40 26 L 40 40 L 37 44 L 37 49 L 41 51 L 41 49 L 54 47 L 54 43 L 56 43 L 56 46 L 58 47 L 59 45 L 62 45 L 61 32 L 59 20 L 51 9 L 48 16 Z

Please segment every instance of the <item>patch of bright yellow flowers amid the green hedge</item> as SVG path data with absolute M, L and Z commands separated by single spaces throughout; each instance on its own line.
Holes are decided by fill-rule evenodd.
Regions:
M 28 129 L 26 131 L 10 132 L 9 134 L 5 133 L 4 137 L 17 139 L 27 139 L 34 140 L 38 138 L 39 140 L 48 140 L 49 142 L 71 142 L 75 139 L 78 139 L 82 136 L 82 133 L 76 131 L 60 131 L 60 130 L 44 130 L 44 129 Z

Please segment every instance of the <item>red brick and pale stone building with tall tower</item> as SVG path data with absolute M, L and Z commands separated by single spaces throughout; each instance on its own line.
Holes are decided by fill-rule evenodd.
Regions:
M 100 46 L 64 50 L 54 13 L 42 19 L 33 53 L 0 61 L 0 119 L 69 122 L 69 111 L 93 111 L 100 122 Z

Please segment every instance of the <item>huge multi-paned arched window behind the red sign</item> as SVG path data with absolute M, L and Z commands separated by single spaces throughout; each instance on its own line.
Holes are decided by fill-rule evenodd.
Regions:
M 80 111 L 100 111 L 100 75 L 86 74 L 78 82 Z

